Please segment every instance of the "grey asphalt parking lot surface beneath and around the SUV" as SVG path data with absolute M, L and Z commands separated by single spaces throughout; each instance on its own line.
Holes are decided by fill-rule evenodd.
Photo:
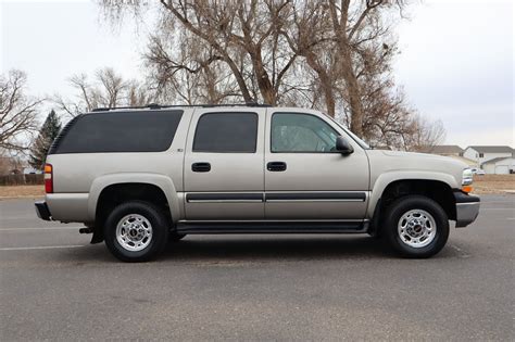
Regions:
M 514 340 L 515 195 L 430 259 L 366 236 L 190 236 L 123 264 L 0 201 L 0 340 Z

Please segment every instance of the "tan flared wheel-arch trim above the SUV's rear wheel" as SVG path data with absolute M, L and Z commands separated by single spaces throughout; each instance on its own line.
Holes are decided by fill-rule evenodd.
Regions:
M 120 183 L 148 183 L 160 188 L 166 197 L 174 223 L 180 217 L 180 204 L 174 182 L 167 176 L 150 173 L 120 173 L 98 177 L 91 183 L 88 199 L 88 216 L 95 220 L 100 193 L 109 186 Z

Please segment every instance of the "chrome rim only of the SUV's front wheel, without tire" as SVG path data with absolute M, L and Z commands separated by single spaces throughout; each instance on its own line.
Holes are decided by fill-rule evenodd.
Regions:
M 397 228 L 401 241 L 415 249 L 428 245 L 437 235 L 435 218 L 423 210 L 412 210 L 404 213 L 399 219 Z

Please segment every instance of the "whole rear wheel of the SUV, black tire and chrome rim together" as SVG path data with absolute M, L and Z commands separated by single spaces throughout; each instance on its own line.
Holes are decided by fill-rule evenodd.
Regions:
M 168 225 L 162 211 L 148 202 L 116 206 L 105 220 L 105 244 L 118 259 L 147 262 L 165 248 Z

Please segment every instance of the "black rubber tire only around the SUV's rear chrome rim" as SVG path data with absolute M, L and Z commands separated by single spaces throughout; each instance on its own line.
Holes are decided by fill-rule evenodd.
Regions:
M 129 251 L 116 238 L 116 227 L 127 215 L 140 215 L 146 218 L 152 230 L 147 246 L 140 251 Z M 123 262 L 139 263 L 155 258 L 166 246 L 168 223 L 161 210 L 148 202 L 131 201 L 116 206 L 108 216 L 104 226 L 105 245 L 109 251 Z M 147 243 L 147 241 L 146 241 Z

